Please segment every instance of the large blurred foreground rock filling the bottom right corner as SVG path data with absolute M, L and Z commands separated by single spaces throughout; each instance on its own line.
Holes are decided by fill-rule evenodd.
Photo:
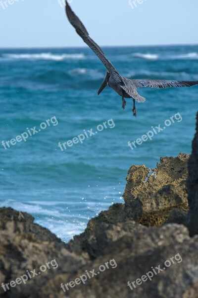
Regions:
M 60 280 L 55 277 L 41 289 L 41 297 L 62 298 L 65 294 L 69 298 L 187 298 L 191 294 L 189 297 L 197 298 L 198 236 L 190 238 L 188 229 L 178 224 L 165 224 L 157 228 L 139 226 L 139 231 L 136 223 L 131 224 L 135 226 L 131 235 L 126 234 L 109 245 L 105 255 L 100 255 L 91 264 L 73 274 L 62 275 L 61 282 L 65 285 L 75 281 L 86 274 L 86 270 L 95 269 L 98 273 L 99 266 L 112 259 L 116 262 L 116 268 L 109 266 L 97 276 L 88 278 L 85 285 L 81 283 L 74 288 L 67 285 L 69 290 L 64 287 L 65 293 L 60 289 Z M 138 286 L 137 283 L 141 282 L 138 279 L 152 272 L 152 268 L 158 272 L 155 268 L 158 265 L 162 271 L 157 275 L 153 272 L 151 281 L 147 280 Z M 133 290 L 127 285 L 128 281 Z M 132 284 L 134 281 L 137 281 L 136 288 Z M 56 296 L 49 296 L 51 284 L 53 287 L 55 285 L 53 291 Z

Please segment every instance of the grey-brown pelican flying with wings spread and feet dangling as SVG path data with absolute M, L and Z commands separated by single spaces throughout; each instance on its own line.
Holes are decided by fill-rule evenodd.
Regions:
M 115 69 L 112 63 L 106 58 L 102 49 L 99 45 L 90 37 L 86 27 L 79 19 L 79 17 L 74 13 L 68 4 L 67 0 L 65 0 L 65 11 L 67 18 L 71 25 L 75 28 L 77 34 L 83 39 L 83 41 L 94 51 L 94 53 L 98 56 L 100 61 L 106 67 L 106 75 L 104 80 L 99 87 L 98 95 L 102 92 L 102 90 L 108 85 L 115 92 L 117 92 L 122 97 L 122 108 L 124 109 L 126 106 L 125 98 L 133 99 L 133 115 L 137 116 L 136 111 L 136 101 L 137 102 L 145 102 L 146 98 L 141 96 L 137 89 L 143 87 L 149 88 L 169 88 L 169 87 L 191 87 L 198 84 L 198 81 L 182 81 L 182 80 L 165 80 L 165 79 L 149 79 L 149 78 L 141 78 L 141 79 L 129 79 L 119 74 L 119 72 Z

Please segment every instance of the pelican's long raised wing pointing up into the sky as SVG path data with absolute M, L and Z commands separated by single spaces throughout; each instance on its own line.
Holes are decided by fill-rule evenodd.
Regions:
M 71 25 L 76 29 L 76 32 L 80 37 L 83 39 L 83 41 L 94 51 L 94 53 L 99 57 L 100 61 L 103 63 L 103 65 L 106 67 L 108 72 L 111 74 L 117 73 L 116 69 L 113 67 L 113 65 L 110 63 L 110 61 L 105 57 L 103 51 L 99 47 L 99 45 L 89 36 L 89 33 L 79 17 L 73 12 L 70 5 L 67 1 L 66 3 L 66 15 L 71 23 Z

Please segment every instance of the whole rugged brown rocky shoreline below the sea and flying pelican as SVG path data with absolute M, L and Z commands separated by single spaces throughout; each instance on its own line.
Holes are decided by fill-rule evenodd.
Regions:
M 198 298 L 198 114 L 190 156 L 133 165 L 126 180 L 125 203 L 67 244 L 0 208 L 0 298 Z

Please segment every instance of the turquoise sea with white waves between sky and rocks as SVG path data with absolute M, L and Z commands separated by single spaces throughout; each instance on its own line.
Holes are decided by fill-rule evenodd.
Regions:
M 129 78 L 198 80 L 198 46 L 104 52 Z M 104 75 L 88 48 L 0 50 L 0 207 L 32 214 L 65 241 L 101 210 L 123 202 L 131 165 L 155 167 L 160 156 L 191 152 L 197 86 L 139 89 L 147 101 L 137 103 L 135 118 L 131 99 L 123 111 L 121 98 L 109 87 L 97 95 Z M 176 116 L 151 141 L 130 149 L 129 141 L 151 127 L 165 127 L 175 114 L 182 120 Z M 73 139 L 81 134 L 82 144 Z M 12 140 L 17 136 L 18 142 Z M 66 149 L 58 143 L 66 143 Z

